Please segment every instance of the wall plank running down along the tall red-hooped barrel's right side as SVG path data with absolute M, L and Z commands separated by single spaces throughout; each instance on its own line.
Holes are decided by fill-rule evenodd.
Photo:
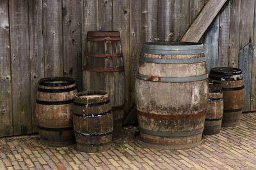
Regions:
M 119 31 L 125 68 L 125 110 L 130 106 L 130 3 L 129 0 L 113 1 L 113 29 Z M 126 112 L 125 111 L 125 112 Z

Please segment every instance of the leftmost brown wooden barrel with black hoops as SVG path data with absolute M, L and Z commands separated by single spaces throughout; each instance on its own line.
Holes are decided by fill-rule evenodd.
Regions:
M 43 145 L 65 146 L 75 142 L 71 104 L 76 92 L 73 78 L 52 77 L 38 81 L 35 113 Z

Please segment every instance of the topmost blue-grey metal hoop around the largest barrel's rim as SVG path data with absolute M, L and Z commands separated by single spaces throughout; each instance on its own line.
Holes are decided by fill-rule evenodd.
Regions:
M 143 53 L 163 54 L 163 55 L 186 55 L 204 53 L 204 45 L 147 45 L 142 46 Z

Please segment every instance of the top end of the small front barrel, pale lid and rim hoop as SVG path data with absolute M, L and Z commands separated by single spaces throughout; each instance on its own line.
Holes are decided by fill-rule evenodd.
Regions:
M 84 91 L 75 94 L 75 103 L 99 103 L 108 100 L 106 91 Z

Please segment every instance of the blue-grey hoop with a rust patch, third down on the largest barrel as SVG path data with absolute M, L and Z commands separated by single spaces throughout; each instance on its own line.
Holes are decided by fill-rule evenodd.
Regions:
M 155 82 L 190 82 L 200 81 L 208 78 L 208 74 L 202 76 L 193 77 L 157 77 L 157 76 L 145 76 L 143 74 L 137 74 L 136 78 L 140 80 L 155 81 Z

